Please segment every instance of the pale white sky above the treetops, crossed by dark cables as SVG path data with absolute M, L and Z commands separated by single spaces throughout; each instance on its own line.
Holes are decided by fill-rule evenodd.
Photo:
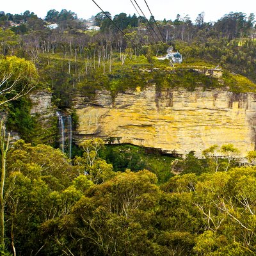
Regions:
M 134 0 L 132 0 L 134 1 Z M 154 18 L 156 20 L 175 20 L 179 13 L 182 17 L 187 14 L 192 22 L 195 21 L 198 13 L 205 13 L 205 22 L 216 21 L 223 15 L 230 12 L 243 12 L 247 16 L 250 13 L 256 15 L 255 0 L 146 0 Z M 112 17 L 121 12 L 127 15 L 138 13 L 132 6 L 131 0 L 95 0 L 104 12 L 111 13 Z M 145 0 L 136 0 L 140 5 L 141 10 L 147 18 L 150 17 L 150 12 L 145 4 Z M 78 18 L 88 19 L 92 15 L 101 12 L 100 9 L 93 3 L 92 0 L 12 0 L 1 1 L 0 11 L 5 13 L 24 13 L 26 10 L 34 12 L 38 17 L 44 18 L 49 10 L 55 9 L 61 12 L 62 9 L 67 9 L 77 14 Z

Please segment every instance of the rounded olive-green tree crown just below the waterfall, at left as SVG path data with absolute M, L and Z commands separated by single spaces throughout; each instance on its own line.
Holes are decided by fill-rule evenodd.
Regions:
M 56 186 L 54 188 L 56 190 L 66 188 L 70 180 L 79 175 L 78 168 L 71 166 L 70 161 L 59 149 L 47 145 L 33 147 L 31 144 L 19 140 L 13 144 L 9 156 L 9 170 L 19 170 L 26 175 L 32 175 L 32 173 L 36 175 L 39 172 L 45 182 Z M 52 182 L 52 177 L 56 182 Z

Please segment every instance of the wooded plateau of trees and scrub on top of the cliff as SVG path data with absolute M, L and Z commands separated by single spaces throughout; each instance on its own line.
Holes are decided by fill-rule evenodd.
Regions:
M 203 86 L 255 92 L 253 13 L 248 17 L 228 13 L 216 22 L 204 22 L 204 13 L 200 13 L 194 23 L 188 16 L 177 15 L 175 20 L 157 20 L 157 26 L 151 17 L 151 30 L 143 17 L 108 15 L 124 34 L 105 13 L 97 13 L 92 24 L 67 10 L 49 10 L 44 20 L 29 11 L 19 15 L 1 12 L 1 53 L 33 61 L 40 84 L 51 88 L 60 108 L 71 107 L 77 93 L 93 95 L 95 90 L 107 89 L 115 95 L 118 90 L 152 83 L 159 90 Z M 49 28 L 51 23 L 57 27 Z M 88 30 L 88 24 L 100 30 Z M 170 67 L 168 60 L 156 59 L 170 46 L 182 54 L 182 64 Z M 217 66 L 223 69 L 223 79 L 201 71 Z

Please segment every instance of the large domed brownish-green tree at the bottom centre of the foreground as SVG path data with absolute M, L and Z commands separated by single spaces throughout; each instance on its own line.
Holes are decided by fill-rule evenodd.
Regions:
M 65 241 L 71 241 L 66 246 L 89 254 L 149 255 L 154 244 L 150 238 L 154 231 L 148 228 L 158 194 L 155 183 L 156 176 L 150 172 L 125 172 L 89 190 L 63 223 L 68 228 Z

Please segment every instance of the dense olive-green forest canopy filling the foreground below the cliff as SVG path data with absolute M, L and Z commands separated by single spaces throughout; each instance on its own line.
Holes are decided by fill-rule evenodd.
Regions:
M 176 175 L 159 187 L 158 174 L 114 173 L 99 156 L 111 156 L 111 148 L 116 157 L 140 155 L 148 166 L 151 161 L 160 166 L 159 159 L 167 156 L 157 160 L 128 145 L 102 150 L 100 139 L 83 141 L 81 147 L 84 156 L 74 166 L 49 146 L 18 141 L 10 148 L 6 236 L 17 253 L 41 248 L 44 255 L 63 250 L 73 255 L 253 255 L 255 168 L 207 173 L 202 165 L 207 161 L 198 163 L 190 153 L 184 161 L 194 173 Z M 216 148 L 205 150 L 205 156 Z M 233 145 L 221 148 L 227 154 L 237 151 Z

